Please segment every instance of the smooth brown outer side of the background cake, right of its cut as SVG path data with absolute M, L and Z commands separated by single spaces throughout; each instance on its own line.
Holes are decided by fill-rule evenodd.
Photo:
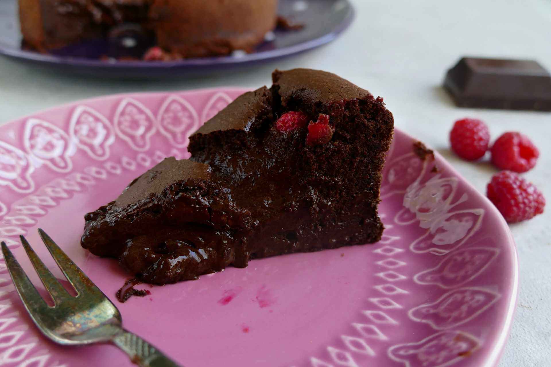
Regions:
M 277 0 L 155 0 L 149 21 L 158 46 L 176 57 L 252 51 L 276 28 Z

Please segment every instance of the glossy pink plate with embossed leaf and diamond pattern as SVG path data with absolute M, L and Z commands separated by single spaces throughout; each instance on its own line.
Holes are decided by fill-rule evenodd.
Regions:
M 80 248 L 83 215 L 116 198 L 242 89 L 116 95 L 0 127 L 0 238 L 44 228 L 111 299 L 127 279 Z M 251 261 L 116 305 L 124 325 L 187 367 L 495 366 L 515 307 L 513 239 L 490 202 L 440 155 L 421 161 L 396 131 L 375 245 Z M 437 172 L 434 172 L 434 167 Z M 0 261 L 0 364 L 132 366 L 112 346 L 60 347 L 39 334 Z

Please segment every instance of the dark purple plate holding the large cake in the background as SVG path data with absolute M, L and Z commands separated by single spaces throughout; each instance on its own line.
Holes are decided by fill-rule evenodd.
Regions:
M 288 56 L 334 40 L 354 18 L 354 9 L 347 0 L 280 0 L 278 14 L 305 26 L 301 30 L 269 32 L 255 52 L 169 62 L 102 61 L 99 57 L 110 46 L 107 41 L 83 42 L 55 54 L 21 50 L 17 6 L 18 0 L 0 1 L 0 54 L 63 72 L 121 78 L 203 74 Z

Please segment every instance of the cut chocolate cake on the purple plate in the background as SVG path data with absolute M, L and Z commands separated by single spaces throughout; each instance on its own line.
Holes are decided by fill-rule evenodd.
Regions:
M 276 13 L 277 0 L 19 0 L 24 44 L 42 52 L 136 26 L 170 58 L 250 51 Z

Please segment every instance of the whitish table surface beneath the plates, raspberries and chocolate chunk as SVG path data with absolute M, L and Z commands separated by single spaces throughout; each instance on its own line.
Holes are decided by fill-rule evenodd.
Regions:
M 480 191 L 496 172 L 463 162 L 448 133 L 462 117 L 483 119 L 492 138 L 520 130 L 539 147 L 526 173 L 550 201 L 533 220 L 514 224 L 520 298 L 500 367 L 551 365 L 551 113 L 462 109 L 442 90 L 445 71 L 463 55 L 536 59 L 551 70 L 549 0 L 353 0 L 357 17 L 339 39 L 317 50 L 239 72 L 191 79 L 113 81 L 64 76 L 0 58 L 0 123 L 61 103 L 119 92 L 258 87 L 274 68 L 323 69 L 385 98 L 396 127 L 444 155 Z M 0 188 L 1 189 L 1 188 Z

